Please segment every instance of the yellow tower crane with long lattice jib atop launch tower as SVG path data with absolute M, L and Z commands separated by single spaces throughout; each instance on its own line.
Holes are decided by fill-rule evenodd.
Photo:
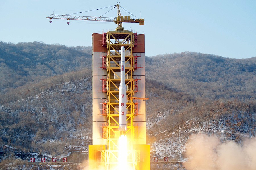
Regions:
M 144 19 L 142 18 L 131 18 L 131 16 L 121 16 L 120 13 L 120 5 L 113 5 L 113 8 L 117 7 L 117 17 L 111 18 L 111 17 L 95 17 L 95 16 L 74 16 L 70 14 L 65 15 L 55 15 L 51 14 L 50 16 L 46 17 L 50 19 L 50 23 L 52 23 L 52 19 L 62 19 L 62 20 L 68 20 L 67 24 L 69 23 L 69 20 L 84 20 L 84 21 L 106 21 L 106 22 L 115 22 L 117 24 L 117 28 L 122 28 L 123 22 L 129 22 L 129 23 L 139 23 L 139 25 L 144 25 Z M 98 10 L 98 9 L 96 9 Z M 79 12 L 82 13 L 82 12 Z M 77 14 L 77 13 L 75 13 Z M 131 13 L 130 13 L 131 14 Z M 132 15 L 132 14 L 131 14 Z

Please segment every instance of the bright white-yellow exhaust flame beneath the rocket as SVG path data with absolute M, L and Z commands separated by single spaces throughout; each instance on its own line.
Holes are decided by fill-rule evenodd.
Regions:
M 119 155 L 118 155 L 118 167 L 122 170 L 128 170 L 128 149 L 127 149 L 127 137 L 126 135 L 121 135 L 118 141 L 119 145 Z

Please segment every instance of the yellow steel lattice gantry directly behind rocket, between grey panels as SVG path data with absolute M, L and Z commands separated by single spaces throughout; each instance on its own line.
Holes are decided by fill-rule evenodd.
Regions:
M 133 97 L 133 55 L 132 48 L 134 46 L 133 32 L 117 29 L 116 31 L 107 32 L 107 149 L 104 155 L 106 156 L 106 167 L 111 167 L 111 164 L 118 163 L 118 139 L 120 137 L 119 127 L 119 84 L 120 84 L 120 59 L 119 50 L 121 46 L 125 47 L 125 83 L 127 86 L 127 97 Z M 119 74 L 118 74 L 119 73 Z M 133 112 L 134 103 L 132 99 L 127 99 L 127 138 L 129 139 L 128 163 L 135 167 L 137 160 L 136 150 L 133 150 L 134 126 Z

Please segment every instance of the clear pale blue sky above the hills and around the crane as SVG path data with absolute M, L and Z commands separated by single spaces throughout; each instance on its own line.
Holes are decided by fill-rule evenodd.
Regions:
M 96 3 L 95 3 L 96 2 Z M 0 41 L 91 46 L 93 32 L 115 29 L 112 22 L 46 19 L 50 14 L 70 14 L 116 5 L 102 0 L 1 0 Z M 123 23 L 125 29 L 145 33 L 146 56 L 184 51 L 215 54 L 228 58 L 256 56 L 255 0 L 166 0 L 119 1 L 120 6 L 145 25 Z M 110 8 L 84 12 L 101 16 Z M 141 14 L 140 14 L 141 12 Z M 127 15 L 121 10 L 122 15 Z M 104 15 L 116 17 L 117 9 Z

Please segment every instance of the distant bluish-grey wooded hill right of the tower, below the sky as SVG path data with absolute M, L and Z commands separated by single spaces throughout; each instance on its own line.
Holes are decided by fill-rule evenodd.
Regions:
M 170 88 L 208 99 L 255 100 L 256 57 L 230 59 L 182 52 L 146 58 L 146 76 Z

